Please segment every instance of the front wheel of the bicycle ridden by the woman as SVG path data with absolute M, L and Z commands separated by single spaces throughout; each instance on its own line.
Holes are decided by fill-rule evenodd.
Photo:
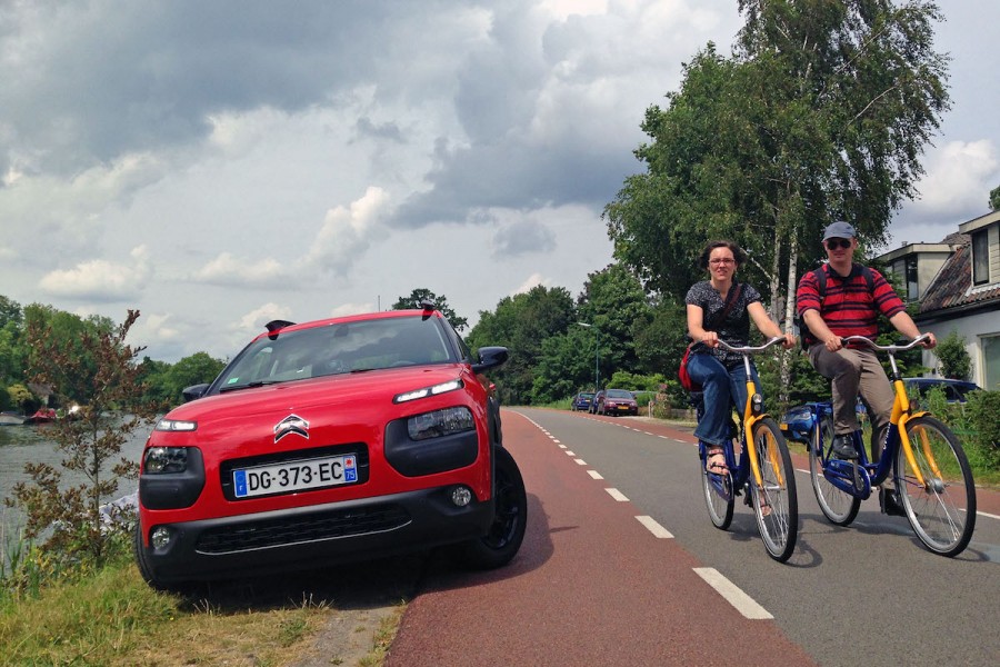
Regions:
M 774 560 L 784 563 L 796 548 L 799 534 L 799 500 L 796 494 L 796 470 L 784 436 L 770 417 L 753 427 L 753 448 L 763 480 L 756 488 L 753 479 L 753 511 L 764 548 Z M 767 511 L 767 514 L 764 514 Z

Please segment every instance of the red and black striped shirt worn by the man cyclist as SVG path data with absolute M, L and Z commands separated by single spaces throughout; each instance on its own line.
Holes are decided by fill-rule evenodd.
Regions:
M 801 318 L 807 310 L 819 310 L 833 334 L 873 339 L 879 332 L 879 313 L 891 318 L 906 310 L 906 305 L 881 273 L 874 269 L 869 270 L 872 277 L 870 291 L 860 265 L 853 265 L 847 278 L 842 278 L 829 265 L 821 266 L 816 271 L 827 273 L 827 289 L 822 300 L 819 296 L 816 271 L 809 271 L 802 276 L 796 292 L 799 317 Z M 818 340 L 813 336 L 806 336 L 806 345 L 814 342 Z

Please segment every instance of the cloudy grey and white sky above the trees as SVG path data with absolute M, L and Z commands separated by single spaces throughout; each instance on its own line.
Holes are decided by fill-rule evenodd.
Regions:
M 0 295 L 142 317 L 154 359 L 416 288 L 470 322 L 611 261 L 601 209 L 736 0 L 0 0 Z M 1000 185 L 993 0 L 941 0 L 953 109 L 896 242 Z M 894 245 L 893 243 L 893 245 Z

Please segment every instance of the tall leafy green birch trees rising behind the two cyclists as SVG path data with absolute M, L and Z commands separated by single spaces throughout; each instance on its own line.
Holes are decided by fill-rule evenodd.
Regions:
M 647 110 L 652 142 L 636 150 L 647 171 L 626 179 L 604 216 L 616 257 L 677 300 L 700 278 L 706 241 L 737 241 L 751 258 L 743 279 L 790 326 L 799 266 L 822 257 L 822 227 L 847 219 L 881 243 L 916 192 L 919 157 L 949 104 L 931 29 L 941 16 L 930 2 L 890 0 L 739 7 L 733 57 L 708 44 L 669 107 Z

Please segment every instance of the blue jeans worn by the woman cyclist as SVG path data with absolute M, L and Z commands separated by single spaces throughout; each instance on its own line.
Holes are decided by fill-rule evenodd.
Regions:
M 747 406 L 747 370 L 740 364 L 732 370 L 726 370 L 722 362 L 712 355 L 691 355 L 688 359 L 688 374 L 702 387 L 704 412 L 698 420 L 694 437 L 709 445 L 731 442 L 729 425 L 732 421 L 732 407 L 738 406 L 740 419 Z M 761 391 L 757 367 L 750 364 L 750 375 Z

